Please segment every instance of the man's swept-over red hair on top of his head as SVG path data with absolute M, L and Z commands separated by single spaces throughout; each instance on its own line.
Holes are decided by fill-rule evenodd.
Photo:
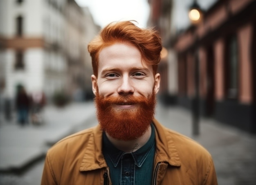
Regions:
M 88 44 L 88 51 L 92 57 L 92 68 L 95 76 L 98 76 L 99 53 L 106 46 L 117 42 L 128 42 L 136 46 L 141 57 L 153 67 L 154 74 L 160 62 L 162 50 L 161 37 L 153 29 L 141 29 L 131 21 L 112 22 L 103 28 L 100 34 Z

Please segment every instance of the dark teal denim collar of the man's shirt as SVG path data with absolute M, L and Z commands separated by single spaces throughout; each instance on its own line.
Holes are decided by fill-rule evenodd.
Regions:
M 141 167 L 141 165 L 146 160 L 150 151 L 152 151 L 155 148 L 155 128 L 153 124 L 151 124 L 151 128 L 152 128 L 151 135 L 147 143 L 143 145 L 141 148 L 139 148 L 139 150 L 130 153 L 134 159 L 135 164 L 138 167 Z M 104 153 L 104 156 L 109 157 L 110 161 L 113 163 L 115 167 L 117 167 L 122 156 L 126 154 L 126 152 L 123 152 L 117 149 L 109 141 L 105 132 L 103 132 L 103 153 Z

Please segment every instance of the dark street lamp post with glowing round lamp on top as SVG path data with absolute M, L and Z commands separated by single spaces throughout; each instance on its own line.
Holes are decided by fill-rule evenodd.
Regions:
M 194 26 L 202 21 L 202 10 L 196 0 L 193 1 L 189 8 L 189 19 Z M 192 99 L 192 134 L 198 136 L 199 132 L 199 116 L 200 116 L 200 102 L 199 102 L 199 57 L 198 57 L 198 36 L 195 35 L 194 43 L 194 78 L 195 78 L 195 95 Z

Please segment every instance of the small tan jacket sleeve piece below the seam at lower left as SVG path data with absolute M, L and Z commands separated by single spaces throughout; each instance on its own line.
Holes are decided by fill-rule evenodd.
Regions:
M 56 178 L 54 176 L 54 172 L 48 154 L 45 158 L 45 165 L 43 169 L 41 185 L 58 185 L 56 182 Z

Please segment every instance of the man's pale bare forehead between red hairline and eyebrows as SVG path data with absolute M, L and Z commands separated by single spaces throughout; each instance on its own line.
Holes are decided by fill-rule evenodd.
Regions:
M 141 58 L 139 49 L 130 43 L 115 43 L 106 46 L 99 53 L 99 72 L 101 68 L 115 65 L 152 68 Z

